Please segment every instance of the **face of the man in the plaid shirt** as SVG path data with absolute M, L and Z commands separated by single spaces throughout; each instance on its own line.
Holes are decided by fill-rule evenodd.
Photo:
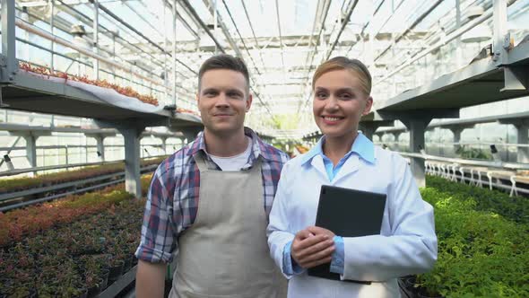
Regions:
M 244 75 L 228 69 L 206 71 L 196 100 L 205 129 L 217 135 L 243 129 L 245 114 L 252 104 Z

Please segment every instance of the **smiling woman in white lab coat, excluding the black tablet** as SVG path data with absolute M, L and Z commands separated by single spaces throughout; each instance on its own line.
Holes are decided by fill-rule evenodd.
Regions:
M 312 80 L 313 112 L 324 136 L 282 169 L 268 225 L 289 297 L 399 297 L 396 278 L 428 271 L 437 259 L 433 208 L 422 201 L 407 162 L 358 132 L 371 110 L 371 76 L 359 60 L 334 57 Z M 379 235 L 341 237 L 315 227 L 322 185 L 386 194 Z M 330 263 L 342 280 L 308 276 Z

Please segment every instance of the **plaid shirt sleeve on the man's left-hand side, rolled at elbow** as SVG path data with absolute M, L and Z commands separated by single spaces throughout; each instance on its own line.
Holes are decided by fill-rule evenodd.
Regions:
M 143 215 L 142 239 L 135 252 L 137 259 L 150 263 L 172 260 L 176 248 L 174 225 L 171 223 L 172 196 L 164 185 L 162 162 L 152 176 Z

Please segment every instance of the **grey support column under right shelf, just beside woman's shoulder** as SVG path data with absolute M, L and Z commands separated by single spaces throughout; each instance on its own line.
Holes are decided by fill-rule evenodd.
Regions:
M 421 153 L 425 148 L 424 132 L 428 127 L 431 118 L 410 118 L 403 121 L 404 125 L 410 130 L 410 151 L 412 153 Z M 418 157 L 412 157 L 410 167 L 412 168 L 413 178 L 417 186 L 423 188 L 426 186 L 424 160 Z

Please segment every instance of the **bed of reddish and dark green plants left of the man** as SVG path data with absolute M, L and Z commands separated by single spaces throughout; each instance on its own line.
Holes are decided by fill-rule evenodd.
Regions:
M 144 204 L 120 184 L 0 213 L 0 297 L 99 294 L 136 263 Z

